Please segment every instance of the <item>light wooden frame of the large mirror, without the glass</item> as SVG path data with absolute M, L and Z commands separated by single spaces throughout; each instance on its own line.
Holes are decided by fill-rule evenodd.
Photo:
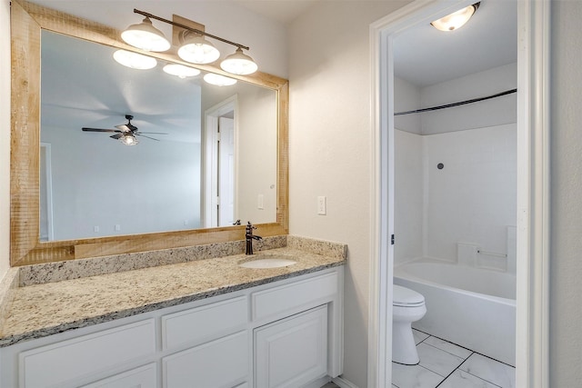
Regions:
M 212 65 L 194 66 L 183 62 L 171 51 L 140 52 L 134 47 L 125 45 L 118 38 L 120 32 L 114 28 L 24 1 L 12 2 L 11 24 L 11 265 L 49 263 L 244 239 L 245 226 L 241 225 L 41 242 L 40 165 L 44 156 L 41 157 L 40 78 L 43 31 L 147 54 L 166 62 L 197 67 L 208 73 L 228 74 Z M 288 82 L 283 78 L 260 72 L 247 76 L 228 76 L 276 93 L 276 220 L 257 226 L 262 236 L 287 234 Z M 45 150 L 42 154 L 45 154 Z M 246 223 L 246 220 L 242 221 L 243 224 Z

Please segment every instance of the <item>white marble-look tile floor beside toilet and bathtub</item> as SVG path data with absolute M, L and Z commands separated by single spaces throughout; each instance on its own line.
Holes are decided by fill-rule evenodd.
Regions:
M 396 388 L 515 388 L 516 368 L 413 330 L 420 363 L 392 363 Z

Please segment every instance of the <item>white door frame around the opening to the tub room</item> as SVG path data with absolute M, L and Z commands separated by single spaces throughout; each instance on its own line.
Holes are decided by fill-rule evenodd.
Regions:
M 368 386 L 391 381 L 394 255 L 394 72 L 392 39 L 474 3 L 416 0 L 370 25 L 372 176 Z M 548 379 L 550 2 L 517 2 L 517 386 Z

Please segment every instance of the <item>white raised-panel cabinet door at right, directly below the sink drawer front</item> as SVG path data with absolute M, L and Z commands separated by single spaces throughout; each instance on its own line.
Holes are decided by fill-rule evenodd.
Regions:
M 327 371 L 327 305 L 255 330 L 256 388 L 296 388 Z

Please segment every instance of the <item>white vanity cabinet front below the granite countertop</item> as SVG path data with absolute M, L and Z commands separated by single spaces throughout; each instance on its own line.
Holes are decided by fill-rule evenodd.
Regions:
M 342 366 L 343 267 L 0 348 L 11 388 L 300 387 Z

